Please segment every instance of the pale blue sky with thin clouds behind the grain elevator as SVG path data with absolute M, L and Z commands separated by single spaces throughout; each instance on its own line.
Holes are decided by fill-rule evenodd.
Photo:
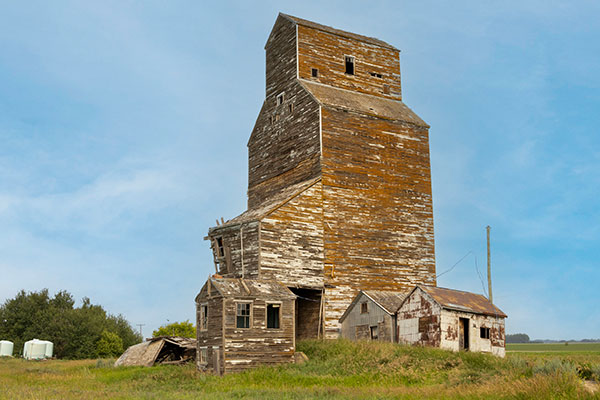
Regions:
M 508 332 L 600 337 L 594 1 L 0 3 L 0 301 L 65 289 L 145 336 L 194 320 L 203 237 L 245 209 L 279 11 L 402 50 L 438 273 L 468 254 L 438 284 L 483 292 L 491 225 Z

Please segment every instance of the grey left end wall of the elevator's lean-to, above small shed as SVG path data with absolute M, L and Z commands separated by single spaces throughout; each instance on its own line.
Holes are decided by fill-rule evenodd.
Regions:
M 228 278 L 241 278 L 243 274 L 245 278 L 258 278 L 258 229 L 258 221 L 252 221 L 217 226 L 209 231 L 213 257 L 218 262 L 220 275 Z M 222 256 L 219 256 L 216 246 L 218 237 L 223 240 Z

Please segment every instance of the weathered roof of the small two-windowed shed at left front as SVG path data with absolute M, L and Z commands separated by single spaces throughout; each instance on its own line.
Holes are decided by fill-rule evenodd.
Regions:
M 205 286 L 211 285 L 222 297 L 269 297 L 272 299 L 293 299 L 296 295 L 281 283 L 265 279 L 220 278 L 211 276 Z M 196 296 L 196 301 L 204 292 L 204 287 Z

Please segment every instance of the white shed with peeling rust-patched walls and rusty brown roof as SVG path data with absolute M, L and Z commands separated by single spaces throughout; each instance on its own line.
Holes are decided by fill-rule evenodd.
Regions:
M 505 355 L 506 314 L 480 294 L 419 285 L 397 318 L 400 343 Z

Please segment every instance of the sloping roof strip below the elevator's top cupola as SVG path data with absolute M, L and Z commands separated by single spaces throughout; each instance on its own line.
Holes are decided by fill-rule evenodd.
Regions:
M 340 89 L 303 79 L 299 80 L 299 82 L 323 106 L 356 111 L 379 118 L 403 121 L 429 128 L 429 125 L 425 121 L 400 100 Z

